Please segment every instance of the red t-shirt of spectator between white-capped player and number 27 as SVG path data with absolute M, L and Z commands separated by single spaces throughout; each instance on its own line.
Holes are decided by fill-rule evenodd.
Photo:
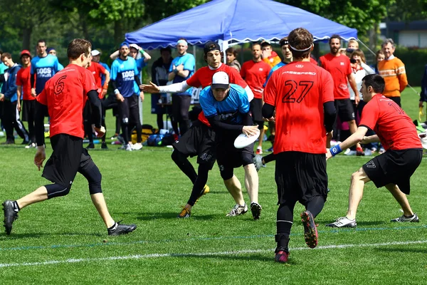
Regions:
M 241 76 L 251 88 L 254 98 L 263 98 L 263 85 L 267 80 L 270 70 L 270 65 L 264 61 L 255 62 L 251 60 L 243 63 Z

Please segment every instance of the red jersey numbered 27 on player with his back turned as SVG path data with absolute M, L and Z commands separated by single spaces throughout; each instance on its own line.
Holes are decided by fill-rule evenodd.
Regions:
M 326 151 L 323 103 L 334 100 L 329 72 L 307 61 L 275 71 L 265 86 L 264 101 L 275 106 L 274 153 Z

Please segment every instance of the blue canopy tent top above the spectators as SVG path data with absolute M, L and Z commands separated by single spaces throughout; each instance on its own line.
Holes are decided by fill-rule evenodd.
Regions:
M 317 40 L 333 33 L 347 41 L 357 38 L 354 28 L 276 1 L 213 0 L 126 33 L 126 40 L 146 49 L 176 46 L 179 38 L 192 45 L 218 41 L 225 50 L 231 42 L 278 41 L 298 27 L 307 28 Z

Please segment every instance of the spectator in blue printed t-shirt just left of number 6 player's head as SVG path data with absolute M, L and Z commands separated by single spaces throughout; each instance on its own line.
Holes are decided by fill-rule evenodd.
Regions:
M 36 97 L 59 71 L 58 58 L 46 53 L 46 41 L 37 41 L 37 56 L 31 60 L 31 94 Z

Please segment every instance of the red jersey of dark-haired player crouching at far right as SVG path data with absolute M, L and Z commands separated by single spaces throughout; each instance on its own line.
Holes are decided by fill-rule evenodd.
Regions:
M 364 106 L 359 126 L 373 130 L 385 150 L 422 148 L 415 125 L 399 105 L 382 94 L 376 94 Z

